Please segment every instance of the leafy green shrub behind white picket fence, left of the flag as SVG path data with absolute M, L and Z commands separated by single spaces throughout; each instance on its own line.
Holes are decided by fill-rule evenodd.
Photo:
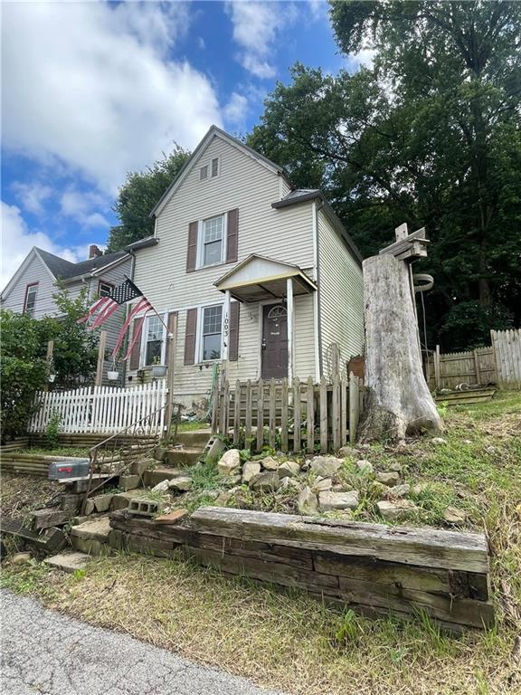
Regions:
M 98 363 L 99 330 L 90 331 L 78 319 L 90 305 L 87 288 L 71 298 L 63 287 L 52 295 L 60 315 L 42 319 L 43 342 L 54 341 L 52 367 L 54 388 L 72 389 L 92 382 Z

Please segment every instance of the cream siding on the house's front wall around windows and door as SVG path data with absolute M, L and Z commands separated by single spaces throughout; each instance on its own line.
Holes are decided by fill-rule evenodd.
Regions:
M 220 158 L 220 173 L 199 181 L 200 167 Z M 136 253 L 135 282 L 160 313 L 177 310 L 175 397 L 190 396 L 199 402 L 210 388 L 212 369 L 185 366 L 186 309 L 223 302 L 213 282 L 235 263 L 186 272 L 188 225 L 233 208 L 239 208 L 238 260 L 258 253 L 298 265 L 313 273 L 312 204 L 274 210 L 279 200 L 280 177 L 237 148 L 213 138 L 183 184 L 156 220 L 159 243 Z M 255 379 L 260 371 L 261 310 L 259 304 L 242 304 L 239 326 L 239 358 L 229 363 L 231 379 Z M 295 298 L 295 364 L 298 376 L 314 374 L 313 301 Z M 301 341 L 301 342 L 300 342 Z M 311 370 L 311 371 L 309 371 Z M 129 372 L 132 381 L 135 373 Z M 149 375 L 146 376 L 149 378 Z

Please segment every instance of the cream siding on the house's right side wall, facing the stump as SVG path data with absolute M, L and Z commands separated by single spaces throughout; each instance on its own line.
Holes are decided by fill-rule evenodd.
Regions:
M 323 373 L 329 376 L 329 350 L 337 343 L 341 364 L 364 349 L 362 268 L 326 215 L 318 213 L 318 268 Z

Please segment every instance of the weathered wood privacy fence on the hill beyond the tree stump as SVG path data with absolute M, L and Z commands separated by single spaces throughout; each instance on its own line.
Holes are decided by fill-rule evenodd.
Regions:
M 467 352 L 440 354 L 429 361 L 428 382 L 434 388 L 456 388 L 460 384 L 521 388 L 521 328 L 491 330 L 492 345 Z

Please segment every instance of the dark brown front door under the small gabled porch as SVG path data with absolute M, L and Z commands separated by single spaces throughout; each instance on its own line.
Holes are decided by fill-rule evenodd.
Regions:
M 288 310 L 283 304 L 266 304 L 262 308 L 261 376 L 288 376 Z

